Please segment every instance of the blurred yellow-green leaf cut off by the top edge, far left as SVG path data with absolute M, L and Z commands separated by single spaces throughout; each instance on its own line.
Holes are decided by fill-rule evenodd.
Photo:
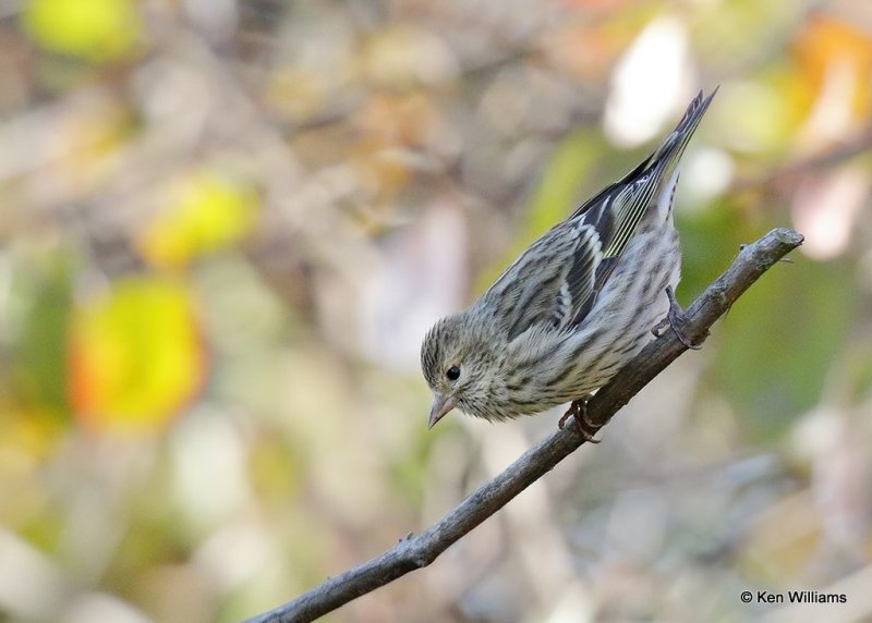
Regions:
M 44 48 L 88 61 L 128 56 L 142 32 L 131 0 L 31 0 L 24 26 Z

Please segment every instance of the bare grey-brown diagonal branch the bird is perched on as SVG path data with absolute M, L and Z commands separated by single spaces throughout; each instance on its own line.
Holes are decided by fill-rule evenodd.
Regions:
M 689 321 L 683 327 L 687 337 L 695 343 L 704 340 L 715 320 L 766 270 L 800 244 L 800 234 L 788 229 L 775 229 L 744 246 L 730 267 L 688 309 Z M 671 331 L 652 340 L 591 399 L 588 418 L 596 424 L 607 424 L 618 410 L 686 350 Z M 247 623 L 313 621 L 410 571 L 427 566 L 450 545 L 505 506 L 582 443 L 584 440 L 572 431 L 571 426 L 567 430 L 556 430 L 420 535 L 401 539 L 382 555 L 328 578 L 320 586 L 250 619 Z

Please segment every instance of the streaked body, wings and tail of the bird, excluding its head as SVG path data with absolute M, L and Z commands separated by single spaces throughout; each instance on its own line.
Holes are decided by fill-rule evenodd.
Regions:
M 520 310 L 510 315 L 506 372 L 516 412 L 598 389 L 653 338 L 669 309 L 666 288 L 680 279 L 678 162 L 712 97 L 700 94 L 651 156 L 533 243 L 492 288 L 505 295 L 521 290 L 516 280 L 535 284 L 506 307 Z

